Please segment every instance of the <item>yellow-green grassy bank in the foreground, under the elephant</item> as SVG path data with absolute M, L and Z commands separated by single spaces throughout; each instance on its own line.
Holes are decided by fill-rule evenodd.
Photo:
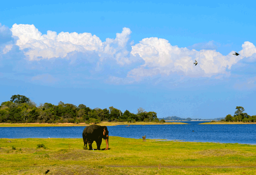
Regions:
M 8 142 L 11 141 L 11 142 Z M 37 148 L 37 144 L 46 147 Z M 0 174 L 254 174 L 256 146 L 109 136 L 109 150 L 83 139 L 0 139 Z M 92 144 L 95 149 L 96 143 Z M 101 149 L 106 148 L 103 141 Z

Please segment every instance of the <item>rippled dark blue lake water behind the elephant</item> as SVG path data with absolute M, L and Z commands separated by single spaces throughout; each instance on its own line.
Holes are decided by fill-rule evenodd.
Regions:
M 187 122 L 186 122 L 187 123 Z M 109 136 L 188 142 L 256 144 L 256 125 L 126 125 L 108 126 Z M 85 127 L 0 127 L 0 138 L 82 138 Z M 194 130 L 194 132 L 192 132 Z

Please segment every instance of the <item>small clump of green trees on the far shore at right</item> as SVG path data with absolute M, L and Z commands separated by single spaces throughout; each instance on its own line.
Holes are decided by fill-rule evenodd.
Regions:
M 231 114 L 228 114 L 224 121 L 230 121 L 230 122 L 256 122 L 256 115 L 250 116 L 247 113 L 244 113 L 244 108 L 241 106 L 236 106 L 236 112 L 232 116 Z

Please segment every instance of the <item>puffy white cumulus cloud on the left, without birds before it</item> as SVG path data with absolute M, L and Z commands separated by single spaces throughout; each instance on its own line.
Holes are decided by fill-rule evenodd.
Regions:
M 54 31 L 47 31 L 43 34 L 34 25 L 14 24 L 11 28 L 12 36 L 18 37 L 16 45 L 29 60 L 41 60 L 51 58 L 69 58 L 72 52 L 87 53 L 93 51 L 98 54 L 98 65 L 104 60 L 115 60 L 117 64 L 130 64 L 132 59 L 126 49 L 127 42 L 132 33 L 129 28 L 124 27 L 122 33 L 116 33 L 115 39 L 107 38 L 102 42 L 99 37 L 91 33 L 68 33 L 57 34 Z M 8 48 L 5 50 L 7 51 Z M 5 51 L 5 52 L 6 52 Z M 74 58 L 71 58 L 72 62 Z M 97 61 L 97 60 L 96 60 Z

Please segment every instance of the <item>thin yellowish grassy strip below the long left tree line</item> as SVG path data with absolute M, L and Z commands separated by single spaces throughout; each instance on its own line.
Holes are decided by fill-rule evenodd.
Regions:
M 103 121 L 101 123 L 97 123 L 97 125 L 101 126 L 116 126 L 116 125 L 180 125 L 187 124 L 182 122 L 165 122 L 165 123 L 156 123 L 156 122 L 107 122 Z M 57 127 L 57 126 L 89 126 L 91 124 L 85 123 L 0 123 L 0 127 Z

